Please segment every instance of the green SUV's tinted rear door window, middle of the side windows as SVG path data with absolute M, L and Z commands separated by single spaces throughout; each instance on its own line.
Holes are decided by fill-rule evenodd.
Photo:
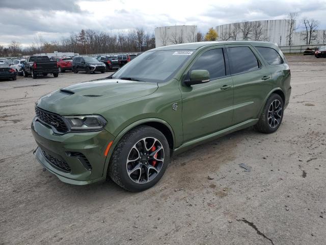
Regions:
M 249 47 L 228 47 L 227 51 L 229 60 L 231 60 L 231 74 L 259 68 L 259 61 Z

